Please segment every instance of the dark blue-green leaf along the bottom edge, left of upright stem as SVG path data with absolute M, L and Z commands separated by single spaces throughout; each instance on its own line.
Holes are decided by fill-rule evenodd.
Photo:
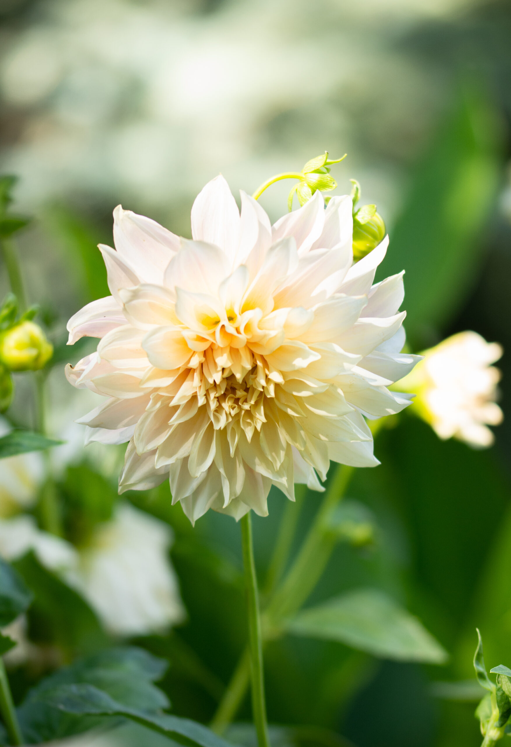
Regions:
M 202 724 L 166 713 L 148 713 L 138 708 L 129 708 L 93 685 L 56 687 L 44 693 L 44 703 L 76 715 L 125 716 L 185 745 L 192 742 L 200 747 L 228 747 L 229 744 Z

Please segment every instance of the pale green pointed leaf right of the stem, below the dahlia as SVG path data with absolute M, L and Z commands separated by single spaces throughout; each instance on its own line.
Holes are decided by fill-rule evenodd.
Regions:
M 330 639 L 377 657 L 445 662 L 448 654 L 416 617 L 379 589 L 355 589 L 298 613 L 290 633 Z

